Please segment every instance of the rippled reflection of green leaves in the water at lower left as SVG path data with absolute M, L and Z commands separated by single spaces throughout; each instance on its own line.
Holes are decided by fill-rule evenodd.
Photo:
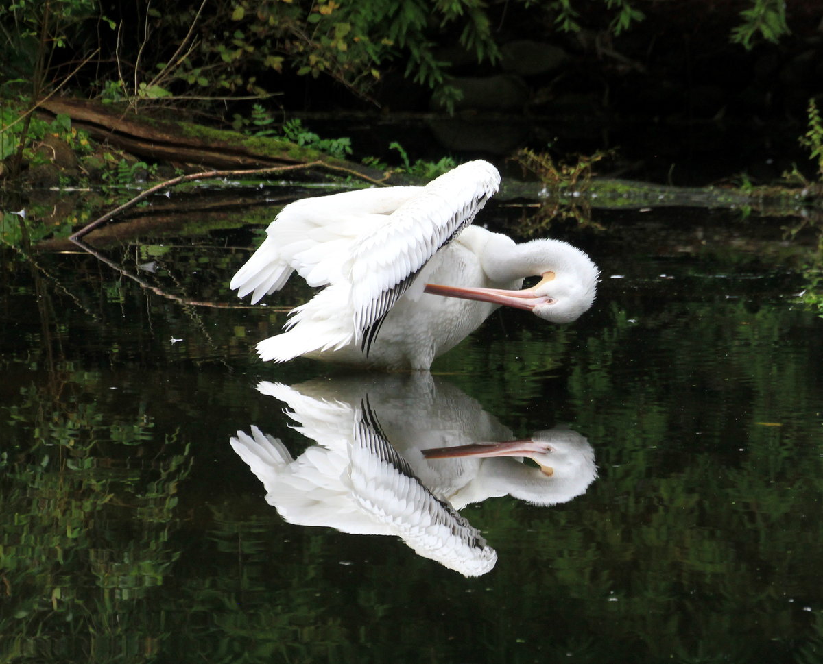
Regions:
M 25 398 L 34 408 L 50 401 Z M 27 445 L 6 440 L 14 460 L 4 468 L 0 577 L 14 592 L 4 597 L 0 647 L 9 662 L 49 652 L 44 634 L 61 647 L 95 634 L 100 646 L 179 559 L 170 534 L 179 527 L 176 494 L 191 466 L 188 448 L 170 436 L 172 454 L 145 467 L 129 463 L 116 442 L 108 454 L 90 438 L 80 443 L 85 427 L 105 429 L 99 411 L 85 411 L 55 413 L 58 422 L 30 431 Z M 129 528 L 112 528 L 127 514 Z

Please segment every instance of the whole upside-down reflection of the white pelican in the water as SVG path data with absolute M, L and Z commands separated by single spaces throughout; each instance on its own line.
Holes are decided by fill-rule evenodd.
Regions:
M 583 493 L 597 474 L 583 436 L 555 429 L 512 441 L 477 401 L 430 374 L 262 382 L 258 390 L 286 403 L 295 430 L 317 443 L 294 459 L 257 427 L 230 441 L 283 519 L 396 535 L 466 576 L 486 574 L 497 555 L 456 510 L 506 495 L 553 505 Z M 490 440 L 505 442 L 478 443 Z

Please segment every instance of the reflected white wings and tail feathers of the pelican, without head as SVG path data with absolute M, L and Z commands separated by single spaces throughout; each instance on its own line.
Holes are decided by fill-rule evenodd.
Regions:
M 367 403 L 352 407 L 276 383 L 261 383 L 258 390 L 287 403 L 297 431 L 318 444 L 292 459 L 280 440 L 257 427 L 251 436 L 238 431 L 230 440 L 283 519 L 344 533 L 394 535 L 418 555 L 465 576 L 494 567 L 495 550 L 414 475 L 381 434 Z

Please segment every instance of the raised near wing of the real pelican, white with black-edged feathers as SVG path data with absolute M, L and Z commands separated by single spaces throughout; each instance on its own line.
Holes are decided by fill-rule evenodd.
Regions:
M 472 161 L 435 178 L 398 206 L 388 223 L 351 247 L 350 274 L 355 340 L 367 352 L 380 325 L 432 256 L 471 224 L 497 191 L 500 173 Z

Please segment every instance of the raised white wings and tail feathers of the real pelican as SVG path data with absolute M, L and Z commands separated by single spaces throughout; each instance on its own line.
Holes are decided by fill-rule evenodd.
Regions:
M 285 333 L 258 344 L 259 356 L 284 362 L 349 344 L 368 354 L 388 311 L 499 185 L 495 167 L 478 160 L 425 187 L 346 191 L 286 205 L 231 288 L 257 302 L 294 270 L 309 286 L 326 288 L 291 311 Z

